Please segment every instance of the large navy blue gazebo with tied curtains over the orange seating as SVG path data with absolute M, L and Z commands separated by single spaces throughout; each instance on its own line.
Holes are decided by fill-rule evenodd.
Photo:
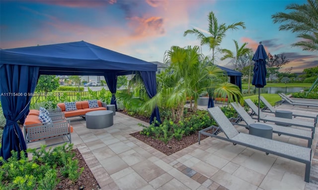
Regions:
M 17 121 L 24 123 L 40 75 L 104 76 L 116 105 L 117 76 L 139 72 L 150 97 L 157 94 L 157 65 L 84 41 L 0 50 L 0 100 L 6 125 L 0 156 L 5 160 L 10 151 L 25 150 L 23 134 Z M 116 106 L 117 109 L 117 106 Z M 157 118 L 158 107 L 150 122 Z

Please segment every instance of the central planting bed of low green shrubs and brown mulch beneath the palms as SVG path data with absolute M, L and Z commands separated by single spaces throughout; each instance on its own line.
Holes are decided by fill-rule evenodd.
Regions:
M 238 114 L 234 108 L 229 106 L 222 106 L 221 110 L 228 118 L 237 118 Z M 127 111 L 122 112 L 128 115 Z M 195 112 L 188 108 L 184 109 L 183 120 L 179 122 L 173 122 L 169 117 L 169 111 L 162 111 L 162 123 L 159 126 L 155 126 L 153 123 L 150 126 L 145 126 L 140 132 L 131 134 L 136 139 L 149 144 L 166 155 L 173 154 L 183 148 L 188 147 L 198 142 L 198 131 L 217 125 L 213 118 L 206 110 L 197 110 Z M 163 113 L 163 114 L 162 114 Z M 130 114 L 135 118 L 149 122 L 149 117 L 141 116 L 137 113 Z M 205 139 L 208 136 L 201 136 L 201 139 Z

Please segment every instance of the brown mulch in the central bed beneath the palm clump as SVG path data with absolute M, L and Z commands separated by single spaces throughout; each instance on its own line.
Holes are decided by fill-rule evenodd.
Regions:
M 127 112 L 125 112 L 124 110 L 119 111 L 120 113 L 127 114 Z M 149 122 L 149 118 L 147 117 L 143 117 L 140 115 L 133 115 L 132 117 L 145 121 L 145 122 Z M 184 136 L 182 137 L 181 141 L 176 140 L 175 138 L 172 138 L 169 142 L 167 142 L 167 144 L 165 144 L 164 142 L 160 141 L 160 140 L 156 140 L 153 139 L 152 137 L 147 137 L 146 135 L 141 135 L 139 132 L 130 134 L 131 136 L 133 136 L 134 138 L 138 139 L 139 141 L 145 142 L 146 144 L 156 148 L 157 150 L 159 150 L 160 152 L 166 154 L 166 155 L 170 155 L 173 154 L 179 150 L 182 150 L 183 148 L 186 148 L 194 143 L 198 142 L 198 132 L 190 135 L 190 136 Z M 205 135 L 201 135 L 201 140 L 207 138 L 208 136 Z

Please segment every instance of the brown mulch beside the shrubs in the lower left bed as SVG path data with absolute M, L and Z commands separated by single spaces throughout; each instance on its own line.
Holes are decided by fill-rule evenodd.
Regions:
M 76 155 L 74 159 L 79 160 L 79 168 L 83 167 L 84 171 L 80 175 L 79 180 L 75 183 L 72 183 L 67 178 L 64 178 L 62 175 L 60 176 L 60 183 L 57 185 L 57 190 L 98 190 L 100 189 L 98 186 L 97 181 L 95 180 L 93 174 L 91 173 L 90 169 L 86 165 L 83 157 L 79 153 L 78 149 L 74 149 Z

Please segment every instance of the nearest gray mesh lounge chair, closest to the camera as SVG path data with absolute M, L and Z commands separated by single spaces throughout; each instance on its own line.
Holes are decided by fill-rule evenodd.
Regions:
M 200 135 L 202 134 L 232 142 L 234 145 L 240 144 L 256 150 L 264 151 L 266 154 L 270 153 L 287 159 L 295 160 L 297 162 L 305 163 L 305 182 L 309 182 L 312 158 L 311 148 L 239 133 L 219 107 L 208 108 L 208 111 L 217 122 L 219 127 L 211 126 L 199 131 L 199 144 Z M 206 131 L 210 129 L 215 129 L 216 131 L 214 133 L 207 133 Z M 225 134 L 226 138 L 218 135 L 221 132 Z

